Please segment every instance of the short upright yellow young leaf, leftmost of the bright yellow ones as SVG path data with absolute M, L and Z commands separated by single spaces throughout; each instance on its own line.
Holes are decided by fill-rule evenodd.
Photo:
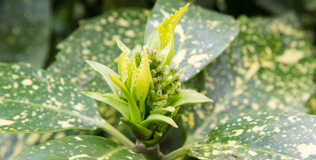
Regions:
M 118 62 L 118 68 L 119 68 L 119 76 L 120 79 L 123 83 L 128 78 L 128 73 L 130 73 L 130 64 L 131 60 L 127 56 L 127 50 L 124 51 L 120 56 L 119 56 L 119 62 Z

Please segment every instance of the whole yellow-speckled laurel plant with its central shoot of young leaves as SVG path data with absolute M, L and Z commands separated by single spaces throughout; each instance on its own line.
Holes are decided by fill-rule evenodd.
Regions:
M 149 16 L 122 9 L 81 21 L 49 71 L 0 63 L 0 133 L 46 133 L 15 159 L 315 159 L 316 117 L 300 113 L 315 62 L 293 15 L 235 21 L 188 6 L 160 0 Z M 164 155 L 173 127 L 186 139 Z M 97 128 L 113 141 L 76 130 L 46 141 Z

